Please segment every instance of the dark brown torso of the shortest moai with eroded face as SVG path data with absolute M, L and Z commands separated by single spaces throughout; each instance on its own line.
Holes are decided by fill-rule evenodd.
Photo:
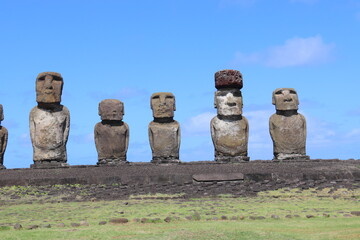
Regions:
M 99 122 L 95 125 L 95 144 L 98 159 L 126 158 L 127 137 L 129 127 L 123 122 L 121 125 L 110 125 Z

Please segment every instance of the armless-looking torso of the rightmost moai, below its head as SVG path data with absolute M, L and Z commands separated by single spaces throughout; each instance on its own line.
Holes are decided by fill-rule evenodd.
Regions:
M 306 122 L 301 114 L 283 116 L 273 114 L 270 117 L 270 135 L 274 144 L 274 155 L 305 155 Z

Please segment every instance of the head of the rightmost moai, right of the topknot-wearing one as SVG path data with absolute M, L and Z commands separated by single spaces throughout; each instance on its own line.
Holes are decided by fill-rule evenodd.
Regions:
M 295 89 L 278 88 L 273 92 L 272 103 L 276 110 L 297 110 L 299 99 Z

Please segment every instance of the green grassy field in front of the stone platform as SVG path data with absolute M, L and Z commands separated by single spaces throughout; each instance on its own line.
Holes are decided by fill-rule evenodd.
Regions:
M 0 239 L 355 240 L 360 239 L 360 217 L 354 213 L 360 211 L 359 200 L 360 189 L 281 189 L 246 198 L 158 194 L 64 202 L 35 188 L 6 187 L 0 188 Z M 129 222 L 110 222 L 119 218 Z M 15 230 L 15 224 L 23 228 Z M 33 225 L 38 228 L 29 230 Z

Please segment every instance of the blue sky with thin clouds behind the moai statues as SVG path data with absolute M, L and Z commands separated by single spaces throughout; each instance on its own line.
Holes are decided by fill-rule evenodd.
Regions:
M 98 103 L 125 104 L 129 161 L 151 160 L 150 96 L 176 96 L 183 161 L 212 160 L 214 73 L 240 70 L 249 156 L 271 159 L 272 91 L 293 87 L 311 158 L 360 158 L 359 0 L 1 0 L 0 103 L 4 165 L 29 167 L 35 78 L 64 78 L 68 163 L 96 164 Z

